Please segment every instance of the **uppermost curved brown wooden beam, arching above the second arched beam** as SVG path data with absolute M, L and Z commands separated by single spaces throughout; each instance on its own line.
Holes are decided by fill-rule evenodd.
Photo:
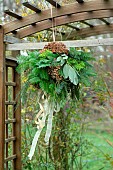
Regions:
M 82 13 L 82 12 L 89 12 L 89 11 L 98 11 L 98 10 L 110 10 L 113 9 L 113 1 L 103 1 L 103 0 L 95 0 L 95 1 L 88 1 L 83 3 L 81 6 L 78 3 L 70 4 L 70 5 L 65 5 L 62 6 L 61 8 L 53 8 L 53 16 L 52 18 L 55 17 L 60 17 L 63 15 L 69 15 L 69 14 L 77 14 L 77 13 Z M 91 13 L 90 13 L 91 14 Z M 90 16 L 90 14 L 88 14 Z M 40 15 L 37 16 L 36 13 L 23 17 L 22 20 L 15 20 L 4 25 L 4 32 L 5 34 L 10 33 L 16 29 L 20 29 L 22 27 L 25 27 L 27 25 L 31 25 L 36 22 L 40 22 L 43 20 L 47 20 L 51 18 L 51 10 L 45 10 L 40 13 Z M 82 16 L 81 20 L 83 19 L 84 16 Z

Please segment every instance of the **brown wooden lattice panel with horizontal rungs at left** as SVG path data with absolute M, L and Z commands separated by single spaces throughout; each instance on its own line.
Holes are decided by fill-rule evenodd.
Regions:
M 21 114 L 17 104 L 20 80 L 15 60 L 6 59 L 5 78 L 5 160 L 6 170 L 21 169 Z

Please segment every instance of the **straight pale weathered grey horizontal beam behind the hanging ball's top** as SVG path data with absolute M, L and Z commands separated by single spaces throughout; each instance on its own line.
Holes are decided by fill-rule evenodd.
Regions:
M 113 38 L 106 39 L 93 39 L 93 40 L 75 40 L 75 41 L 61 41 L 68 48 L 69 47 L 95 47 L 95 46 L 109 46 L 113 45 Z M 43 49 L 48 42 L 40 42 L 40 43 L 17 43 L 17 44 L 8 44 L 6 46 L 7 50 L 35 50 L 35 49 Z

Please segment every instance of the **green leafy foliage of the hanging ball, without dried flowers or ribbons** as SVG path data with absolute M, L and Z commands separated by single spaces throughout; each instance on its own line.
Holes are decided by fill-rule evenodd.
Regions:
M 26 77 L 29 85 L 41 88 L 44 93 L 55 101 L 62 101 L 70 95 L 79 98 L 81 83 L 89 84 L 89 77 L 94 76 L 94 70 L 89 63 L 93 58 L 89 53 L 70 48 L 69 54 L 53 53 L 49 50 L 28 52 L 27 56 L 19 56 L 18 73 Z M 61 80 L 53 79 L 48 68 L 60 66 L 56 73 Z

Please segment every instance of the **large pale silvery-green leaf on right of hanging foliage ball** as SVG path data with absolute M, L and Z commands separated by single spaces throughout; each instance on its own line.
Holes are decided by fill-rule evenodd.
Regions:
M 74 85 L 78 84 L 77 73 L 75 69 L 73 69 L 73 67 L 71 67 L 68 64 L 65 64 L 65 66 L 63 67 L 63 73 L 64 73 L 64 78 L 69 77 L 71 83 L 73 83 Z

